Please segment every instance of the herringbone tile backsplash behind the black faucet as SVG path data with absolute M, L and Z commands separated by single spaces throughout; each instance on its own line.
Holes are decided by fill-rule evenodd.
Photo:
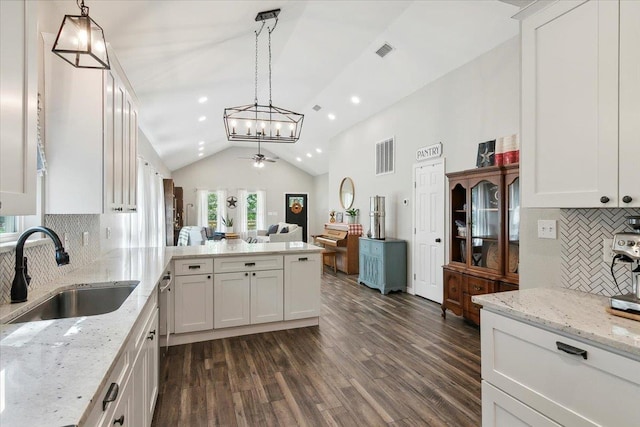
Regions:
M 65 246 L 69 253 L 69 264 L 58 267 L 54 246 L 44 245 L 25 248 L 28 258 L 31 284 L 35 288 L 50 282 L 71 270 L 87 265 L 100 255 L 100 215 L 45 215 L 44 223 L 60 236 L 63 241 L 67 233 L 69 244 Z M 89 232 L 89 244 L 82 246 L 82 233 Z M 64 244 L 64 241 L 62 242 Z M 11 299 L 11 282 L 15 273 L 16 251 L 0 253 L 0 303 Z

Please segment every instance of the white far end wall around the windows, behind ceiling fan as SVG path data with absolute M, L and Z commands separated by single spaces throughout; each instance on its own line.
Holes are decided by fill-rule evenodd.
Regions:
M 308 173 L 298 169 L 284 160 L 267 163 L 264 168 L 253 167 L 250 160 L 239 157 L 250 157 L 256 152 L 255 148 L 227 148 L 213 156 L 206 157 L 172 173 L 174 185 L 183 188 L 185 215 L 189 224 L 196 222 L 195 210 L 188 207 L 196 203 L 196 189 L 210 191 L 226 189 L 229 195 L 236 195 L 237 190 L 265 190 L 267 192 L 267 224 L 284 221 L 285 193 L 308 193 L 308 203 L 314 201 L 314 179 Z M 266 150 L 263 154 L 272 156 Z M 308 206 L 309 224 L 314 224 L 315 207 Z M 188 211 L 187 211 L 188 209 Z M 228 210 L 231 216 L 235 210 Z

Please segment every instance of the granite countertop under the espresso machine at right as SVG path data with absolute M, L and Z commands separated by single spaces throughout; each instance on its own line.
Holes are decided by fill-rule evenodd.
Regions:
M 605 311 L 609 298 L 563 288 L 473 296 L 484 309 L 571 335 L 640 360 L 640 322 Z

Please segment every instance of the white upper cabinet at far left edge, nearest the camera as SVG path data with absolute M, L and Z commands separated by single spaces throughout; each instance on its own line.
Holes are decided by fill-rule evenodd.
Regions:
M 36 213 L 36 2 L 0 2 L 0 215 Z

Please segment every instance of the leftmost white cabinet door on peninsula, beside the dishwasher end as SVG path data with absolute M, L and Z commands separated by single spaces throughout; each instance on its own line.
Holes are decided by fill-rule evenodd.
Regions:
M 177 276 L 175 283 L 175 331 L 213 329 L 213 274 Z

